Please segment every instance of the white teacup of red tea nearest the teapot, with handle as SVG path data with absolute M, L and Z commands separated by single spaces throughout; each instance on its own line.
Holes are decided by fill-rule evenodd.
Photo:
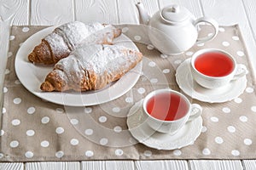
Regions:
M 190 64 L 195 82 L 204 88 L 220 88 L 247 74 L 245 65 L 236 64 L 231 54 L 221 49 L 201 49 L 193 54 Z

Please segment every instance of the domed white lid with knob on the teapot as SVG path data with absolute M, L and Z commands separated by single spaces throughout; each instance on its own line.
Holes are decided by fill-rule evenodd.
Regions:
M 177 4 L 163 8 L 160 16 L 163 20 L 169 23 L 182 22 L 190 17 L 190 12 L 187 8 Z

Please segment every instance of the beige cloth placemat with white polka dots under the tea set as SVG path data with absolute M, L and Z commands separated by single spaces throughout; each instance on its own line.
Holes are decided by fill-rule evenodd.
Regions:
M 238 26 L 220 26 L 213 41 L 195 45 L 178 56 L 160 54 L 148 43 L 146 27 L 121 27 L 145 56 L 137 84 L 106 104 L 67 107 L 31 94 L 15 75 L 15 55 L 20 45 L 45 27 L 12 26 L 3 84 L 0 161 L 256 158 L 255 77 Z M 211 30 L 204 28 L 201 35 Z M 247 65 L 249 73 L 243 94 L 214 104 L 188 96 L 192 103 L 202 106 L 203 124 L 201 135 L 186 147 L 155 150 L 138 144 L 126 125 L 131 106 L 157 88 L 181 91 L 175 81 L 177 66 L 200 48 L 222 48 L 233 54 L 238 63 Z

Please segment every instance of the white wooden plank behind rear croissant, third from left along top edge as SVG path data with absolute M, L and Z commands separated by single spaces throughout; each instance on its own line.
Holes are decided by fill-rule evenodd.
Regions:
M 84 23 L 99 21 L 102 23 L 119 23 L 116 1 L 79 0 L 74 4 L 75 20 Z

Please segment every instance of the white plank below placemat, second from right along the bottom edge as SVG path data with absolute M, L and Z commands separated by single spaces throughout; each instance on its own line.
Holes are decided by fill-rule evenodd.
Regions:
M 241 161 L 218 161 L 218 160 L 194 160 L 189 161 L 189 166 L 191 170 L 242 170 Z

